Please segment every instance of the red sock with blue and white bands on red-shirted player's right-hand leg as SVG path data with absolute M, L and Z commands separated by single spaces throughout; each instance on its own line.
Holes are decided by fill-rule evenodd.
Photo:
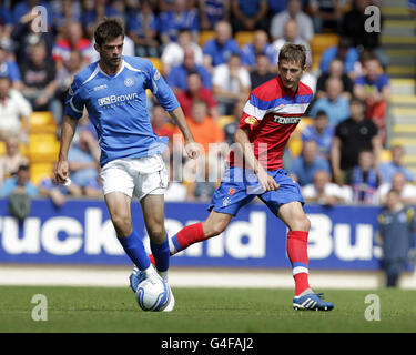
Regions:
M 291 231 L 287 233 L 287 255 L 292 263 L 293 277 L 295 278 L 295 295 L 297 296 L 310 288 L 307 280 L 307 232 Z

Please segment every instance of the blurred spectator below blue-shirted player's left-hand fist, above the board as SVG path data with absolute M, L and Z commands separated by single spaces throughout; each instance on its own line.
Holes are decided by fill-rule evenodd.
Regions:
M 54 168 L 53 168 L 54 169 Z M 81 196 L 81 187 L 71 183 L 65 186 L 62 184 L 57 184 L 53 180 L 53 169 L 51 175 L 44 178 L 40 181 L 38 191 L 40 197 L 48 197 L 52 201 L 53 205 L 57 207 L 62 206 L 67 202 L 67 196 Z

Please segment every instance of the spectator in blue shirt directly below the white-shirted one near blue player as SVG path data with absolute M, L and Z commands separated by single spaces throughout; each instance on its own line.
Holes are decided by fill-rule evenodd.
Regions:
M 194 50 L 191 47 L 185 49 L 183 63 L 172 68 L 166 82 L 174 92 L 187 90 L 187 75 L 191 72 L 197 72 L 202 79 L 202 85 L 212 89 L 211 74 L 205 67 L 195 63 Z

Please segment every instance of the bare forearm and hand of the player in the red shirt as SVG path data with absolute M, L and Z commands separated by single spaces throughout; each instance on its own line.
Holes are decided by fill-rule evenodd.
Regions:
M 237 129 L 234 135 L 235 143 L 240 144 L 240 148 L 243 152 L 244 160 L 250 168 L 253 169 L 257 175 L 258 182 L 262 185 L 264 191 L 277 190 L 278 184 L 275 180 L 267 174 L 262 164 L 255 158 L 252 144 L 248 139 L 248 132 L 246 129 Z

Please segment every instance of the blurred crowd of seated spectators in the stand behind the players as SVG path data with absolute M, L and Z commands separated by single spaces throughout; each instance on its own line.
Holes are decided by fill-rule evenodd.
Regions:
M 3 197 L 22 183 L 33 195 L 50 196 L 57 205 L 65 195 L 101 196 L 99 148 L 87 114 L 69 154 L 70 186 L 58 187 L 51 179 L 34 186 L 28 178 L 20 179 L 30 162 L 17 146 L 28 140 L 27 121 L 33 111 L 52 112 L 60 125 L 73 75 L 98 60 L 94 27 L 103 17 L 118 17 L 126 30 L 123 54 L 161 60 L 161 72 L 202 145 L 199 163 L 186 166 L 193 172 L 193 179 L 187 179 L 186 161 L 179 152 L 182 142 L 174 139 L 177 130 L 149 95 L 154 132 L 170 138 L 164 154 L 171 166 L 166 201 L 211 199 L 250 91 L 276 77 L 280 49 L 294 42 L 307 49 L 302 81 L 313 89 L 315 99 L 307 111 L 312 124 L 301 132 L 302 152 L 295 156 L 287 149 L 283 168 L 298 181 L 305 200 L 328 205 L 379 204 L 393 189 L 406 202 L 416 203 L 415 175 L 403 165 L 404 149 L 388 145 L 388 58 L 381 48 L 379 33 L 364 29 L 364 9 L 381 6 L 378 0 L 1 3 L 0 139 L 7 146 L 0 156 Z M 35 6 L 47 9 L 48 31 L 35 31 L 39 18 L 31 10 Z M 202 43 L 207 31 L 213 38 Z M 252 32 L 250 43 L 237 42 L 241 31 Z M 336 33 L 339 42 L 314 63 L 311 43 L 317 33 Z M 390 161 L 381 162 L 383 149 L 390 149 Z

